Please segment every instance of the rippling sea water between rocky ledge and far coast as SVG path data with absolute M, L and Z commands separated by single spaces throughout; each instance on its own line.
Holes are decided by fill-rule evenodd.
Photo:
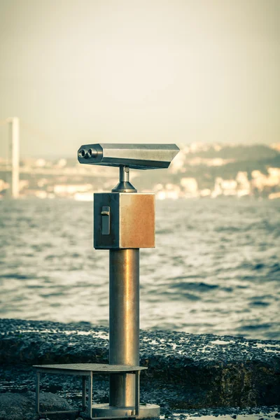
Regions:
M 141 328 L 280 339 L 280 202 L 157 202 Z M 108 325 L 109 253 L 92 203 L 0 202 L 0 316 Z

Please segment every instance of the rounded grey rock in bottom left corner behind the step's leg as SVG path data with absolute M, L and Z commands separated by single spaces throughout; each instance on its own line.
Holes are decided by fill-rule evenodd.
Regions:
M 56 411 L 68 410 L 73 407 L 52 393 L 41 393 L 41 410 Z M 35 393 L 0 393 L 0 420 L 37 420 L 38 414 L 35 412 Z

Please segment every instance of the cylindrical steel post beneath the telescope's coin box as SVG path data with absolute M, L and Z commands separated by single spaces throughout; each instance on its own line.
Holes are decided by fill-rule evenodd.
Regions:
M 139 249 L 110 250 L 109 360 L 139 365 Z M 111 374 L 109 404 L 135 405 L 135 375 Z

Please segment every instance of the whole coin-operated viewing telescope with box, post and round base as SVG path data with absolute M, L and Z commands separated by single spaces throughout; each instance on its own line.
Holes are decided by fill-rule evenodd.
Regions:
M 163 169 L 179 153 L 176 144 L 87 144 L 78 161 L 120 168 L 111 193 L 94 194 L 94 248 L 109 249 L 109 363 L 139 366 L 139 248 L 155 247 L 155 195 L 137 193 L 132 169 Z M 139 376 L 138 376 L 139 378 Z M 160 415 L 158 405 L 139 405 L 136 375 L 111 373 L 109 404 L 92 407 L 92 417 Z M 139 398 L 139 397 L 138 397 Z

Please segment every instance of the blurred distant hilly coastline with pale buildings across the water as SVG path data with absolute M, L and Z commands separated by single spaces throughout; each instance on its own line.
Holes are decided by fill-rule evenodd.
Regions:
M 11 167 L 0 158 L 0 197 L 10 193 Z M 91 201 L 92 193 L 113 188 L 116 168 L 79 165 L 76 158 L 22 158 L 20 197 Z M 159 200 L 178 198 L 263 197 L 280 198 L 280 144 L 181 145 L 181 153 L 167 171 L 131 171 L 139 190 Z

